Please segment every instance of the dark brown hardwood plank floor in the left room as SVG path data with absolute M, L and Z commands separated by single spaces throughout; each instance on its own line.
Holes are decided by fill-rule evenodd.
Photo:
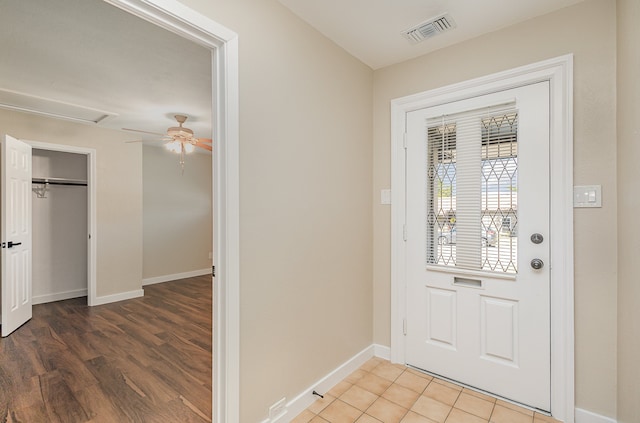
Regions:
M 0 339 L 0 422 L 211 421 L 210 276 L 33 307 Z

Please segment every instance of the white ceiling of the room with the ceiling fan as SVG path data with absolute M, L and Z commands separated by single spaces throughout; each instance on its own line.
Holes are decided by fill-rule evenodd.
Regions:
M 2 0 L 0 55 L 0 102 L 158 133 L 184 114 L 211 138 L 211 52 L 101 0 Z

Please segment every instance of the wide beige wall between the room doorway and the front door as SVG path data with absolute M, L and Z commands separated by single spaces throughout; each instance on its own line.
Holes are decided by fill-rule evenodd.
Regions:
M 372 71 L 276 0 L 181 0 L 239 34 L 241 422 L 371 345 Z

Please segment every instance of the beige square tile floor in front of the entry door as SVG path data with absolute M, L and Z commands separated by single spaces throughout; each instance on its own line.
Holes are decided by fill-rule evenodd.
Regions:
M 549 423 L 557 420 L 372 358 L 292 423 Z

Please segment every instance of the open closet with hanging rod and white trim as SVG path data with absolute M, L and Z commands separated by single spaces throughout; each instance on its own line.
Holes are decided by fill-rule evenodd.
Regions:
M 86 296 L 87 305 L 97 305 L 96 151 L 26 142 L 34 180 L 33 304 Z

